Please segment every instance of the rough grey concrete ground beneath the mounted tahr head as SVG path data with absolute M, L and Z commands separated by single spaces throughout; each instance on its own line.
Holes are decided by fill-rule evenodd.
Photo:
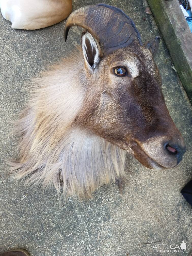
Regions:
M 75 0 L 73 9 L 92 3 Z M 145 0 L 105 3 L 132 17 L 143 41 L 159 35 L 153 16 L 145 13 Z M 13 181 L 6 174 L 5 160 L 15 154 L 16 140 L 8 134 L 11 121 L 18 118 L 26 102 L 25 81 L 69 54 L 80 42 L 81 29 L 72 28 L 65 43 L 65 21 L 25 31 L 12 29 L 1 15 L 0 20 L 0 253 L 25 248 L 31 256 L 170 256 L 181 253 L 162 254 L 152 247 L 189 240 L 185 254 L 189 255 L 191 206 L 180 190 L 192 176 L 191 105 L 163 42 L 156 62 L 168 109 L 187 145 L 182 164 L 176 169 L 154 171 L 128 156 L 128 180 L 122 195 L 110 184 L 99 188 L 92 200 L 63 200 L 54 189 L 30 189 L 24 187 L 24 180 Z

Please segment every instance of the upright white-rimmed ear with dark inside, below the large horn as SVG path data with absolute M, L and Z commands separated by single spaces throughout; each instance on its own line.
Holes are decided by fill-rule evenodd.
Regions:
M 81 45 L 85 64 L 89 71 L 92 72 L 99 63 L 101 49 L 89 32 L 82 33 Z

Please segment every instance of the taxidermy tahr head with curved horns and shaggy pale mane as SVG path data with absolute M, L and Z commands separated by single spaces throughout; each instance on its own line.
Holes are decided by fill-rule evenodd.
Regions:
M 185 144 L 153 60 L 160 37 L 142 44 L 132 19 L 107 4 L 70 14 L 65 40 L 73 25 L 85 29 L 82 49 L 34 80 L 16 125 L 14 176 L 91 197 L 124 175 L 126 152 L 150 169 L 176 167 Z

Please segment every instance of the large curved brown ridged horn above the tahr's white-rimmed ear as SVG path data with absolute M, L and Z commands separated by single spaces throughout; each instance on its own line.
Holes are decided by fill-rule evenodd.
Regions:
M 71 13 L 65 24 L 65 41 L 74 25 L 86 29 L 97 39 L 103 55 L 126 47 L 133 40 L 143 45 L 133 20 L 121 9 L 108 4 L 88 5 Z

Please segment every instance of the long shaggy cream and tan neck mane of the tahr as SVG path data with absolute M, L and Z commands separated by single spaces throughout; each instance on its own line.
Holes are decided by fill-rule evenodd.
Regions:
M 77 50 L 32 81 L 31 99 L 16 122 L 19 161 L 11 163 L 11 173 L 16 179 L 29 175 L 27 184 L 89 198 L 98 186 L 125 175 L 125 151 L 75 124 L 85 98 L 83 69 Z

